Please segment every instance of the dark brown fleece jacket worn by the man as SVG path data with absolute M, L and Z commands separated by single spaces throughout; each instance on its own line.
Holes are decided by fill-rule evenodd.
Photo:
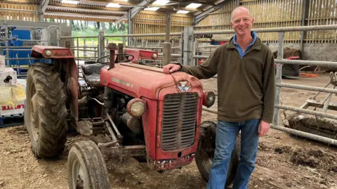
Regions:
M 241 58 L 233 38 L 197 66 L 182 66 L 198 79 L 218 74 L 218 119 L 242 122 L 262 119 L 272 123 L 275 103 L 275 63 L 270 48 L 256 39 Z

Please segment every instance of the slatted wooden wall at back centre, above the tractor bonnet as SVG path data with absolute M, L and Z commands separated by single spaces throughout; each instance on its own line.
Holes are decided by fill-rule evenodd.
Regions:
M 193 25 L 193 15 L 171 14 L 171 32 L 183 32 L 184 27 Z M 132 19 L 133 34 L 158 34 L 166 32 L 166 13 L 140 11 Z M 138 37 L 138 41 L 164 41 L 165 37 Z M 178 38 L 174 38 L 178 40 Z

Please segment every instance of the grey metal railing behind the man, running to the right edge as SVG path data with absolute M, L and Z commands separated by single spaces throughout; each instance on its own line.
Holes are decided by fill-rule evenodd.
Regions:
M 295 32 L 295 31 L 312 31 L 312 30 L 337 30 L 337 25 L 315 25 L 315 26 L 302 26 L 302 27 L 276 27 L 276 28 L 263 28 L 263 29 L 253 29 L 255 32 L 278 32 L 279 33 L 279 41 L 278 41 L 278 51 L 277 51 L 277 59 L 275 59 L 275 63 L 277 63 L 277 74 L 276 74 L 276 96 L 275 96 L 275 113 L 274 113 L 274 121 L 271 124 L 272 129 L 276 129 L 279 131 L 285 131 L 287 133 L 292 133 L 298 136 L 302 136 L 305 138 L 310 138 L 315 141 L 321 141 L 324 143 L 329 143 L 332 145 L 337 145 L 337 140 L 333 138 L 327 138 L 324 136 L 315 135 L 312 133 L 298 131 L 296 129 L 290 129 L 284 126 L 280 126 L 279 121 L 279 110 L 291 110 L 294 112 L 305 113 L 308 115 L 315 115 L 319 117 L 326 117 L 330 119 L 337 119 L 337 115 L 327 114 L 326 112 L 316 112 L 312 110 L 304 110 L 296 107 L 280 105 L 280 93 L 281 88 L 291 88 L 291 89 L 303 89 L 308 91 L 320 91 L 326 93 L 336 93 L 336 89 L 325 89 L 321 87 L 315 86 L 305 86 L 298 84 L 285 84 L 282 83 L 282 64 L 296 64 L 296 65 L 319 65 L 319 66 L 329 66 L 337 68 L 337 62 L 329 62 L 329 61 L 315 61 L 315 60 L 284 60 L 283 59 L 283 49 L 284 49 L 284 32 Z M 209 32 L 193 32 L 193 34 L 234 34 L 233 30 L 223 30 L 223 31 L 209 31 Z M 193 58 L 208 58 L 209 56 L 193 56 Z M 207 112 L 218 113 L 216 110 L 210 110 L 208 108 L 203 108 L 203 110 Z M 337 132 L 337 131 L 336 131 Z

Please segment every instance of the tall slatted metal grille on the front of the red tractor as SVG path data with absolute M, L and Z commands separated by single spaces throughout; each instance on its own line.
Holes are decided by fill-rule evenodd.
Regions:
M 164 97 L 161 124 L 163 150 L 178 150 L 193 144 L 197 105 L 197 93 L 176 93 Z

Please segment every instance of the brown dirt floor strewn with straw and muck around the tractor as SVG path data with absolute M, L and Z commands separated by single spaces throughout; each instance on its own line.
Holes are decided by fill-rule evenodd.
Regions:
M 203 82 L 206 89 L 216 89 L 216 79 Z M 324 87 L 329 83 L 329 75 L 284 79 L 283 82 Z M 315 94 L 312 91 L 282 89 L 281 100 L 284 105 L 300 107 Z M 324 101 L 325 97 L 326 93 L 323 93 L 317 98 Z M 216 109 L 216 106 L 212 108 Z M 216 119 L 216 115 L 209 112 L 204 112 L 203 116 L 203 119 Z M 59 159 L 38 160 L 32 155 L 24 126 L 0 129 L 0 188 L 67 188 L 67 153 L 72 143 L 84 139 L 87 138 L 71 135 L 68 137 L 67 148 Z M 107 169 L 110 172 L 111 187 L 116 189 L 192 189 L 206 186 L 194 162 L 183 169 L 159 173 L 150 171 L 145 164 L 140 164 L 133 158 L 124 158 L 122 162 L 110 160 Z M 336 147 L 271 130 L 267 136 L 260 138 L 256 170 L 249 188 L 335 189 L 336 178 Z

